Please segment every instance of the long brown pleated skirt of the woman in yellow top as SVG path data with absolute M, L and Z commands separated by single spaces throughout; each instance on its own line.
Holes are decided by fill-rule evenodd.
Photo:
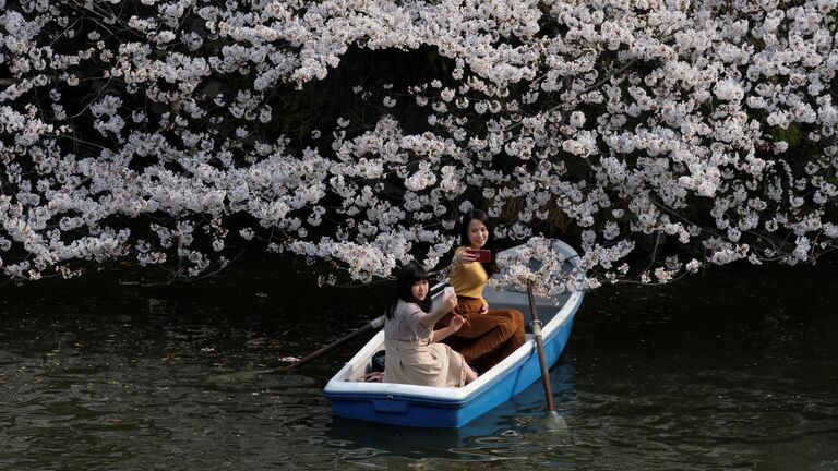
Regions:
M 516 310 L 480 314 L 482 305 L 480 299 L 457 297 L 453 312 L 465 317 L 466 324 L 443 343 L 463 354 L 471 366 L 486 371 L 524 345 L 524 314 Z M 451 317 L 452 313 L 445 314 L 435 328 L 446 327 Z

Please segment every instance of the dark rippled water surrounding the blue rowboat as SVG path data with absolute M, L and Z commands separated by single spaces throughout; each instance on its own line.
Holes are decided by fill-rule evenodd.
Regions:
M 0 288 L 0 469 L 838 470 L 838 266 L 733 267 L 586 298 L 540 385 L 458 431 L 335 420 L 334 340 L 388 286 L 239 263 L 190 286 Z

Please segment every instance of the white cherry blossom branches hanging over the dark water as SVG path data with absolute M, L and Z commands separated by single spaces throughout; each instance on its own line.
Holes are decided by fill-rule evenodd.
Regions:
M 0 270 L 360 281 L 489 213 L 589 286 L 838 237 L 838 0 L 0 0 Z M 527 257 L 541 273 L 525 267 Z M 554 277 L 554 276 L 553 276 Z M 328 277 L 334 281 L 334 277 Z

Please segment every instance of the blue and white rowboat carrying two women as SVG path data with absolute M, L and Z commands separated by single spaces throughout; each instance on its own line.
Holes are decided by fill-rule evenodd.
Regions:
M 564 257 L 563 270 L 577 273 L 575 291 L 554 298 L 536 297 L 538 317 L 543 324 L 547 361 L 552 366 L 567 345 L 573 318 L 584 298 L 584 274 L 576 251 L 553 240 L 552 246 Z M 501 252 L 510 253 L 516 249 Z M 574 270 L 575 268 L 575 270 Z M 445 283 L 432 288 L 438 292 Z M 483 298 L 491 309 L 516 309 L 531 323 L 526 290 L 496 290 L 487 287 Z M 432 387 L 395 383 L 366 383 L 373 355 L 384 350 L 384 331 L 379 331 L 328 381 L 324 394 L 332 403 L 332 413 L 339 418 L 386 423 L 410 427 L 456 428 L 510 400 L 541 377 L 541 370 L 531 333 L 526 341 L 506 359 L 482 373 L 464 387 Z

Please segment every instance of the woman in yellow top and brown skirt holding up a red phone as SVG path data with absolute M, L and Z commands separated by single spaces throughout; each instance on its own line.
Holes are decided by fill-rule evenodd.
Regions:
M 457 306 L 436 326 L 446 327 L 453 314 L 463 316 L 466 324 L 443 341 L 463 354 L 468 364 L 486 371 L 524 343 L 524 315 L 515 310 L 490 311 L 482 297 L 489 278 L 500 271 L 494 235 L 486 213 L 474 209 L 463 216 L 459 244 L 451 270 Z M 490 252 L 488 262 L 477 262 L 478 250 Z

